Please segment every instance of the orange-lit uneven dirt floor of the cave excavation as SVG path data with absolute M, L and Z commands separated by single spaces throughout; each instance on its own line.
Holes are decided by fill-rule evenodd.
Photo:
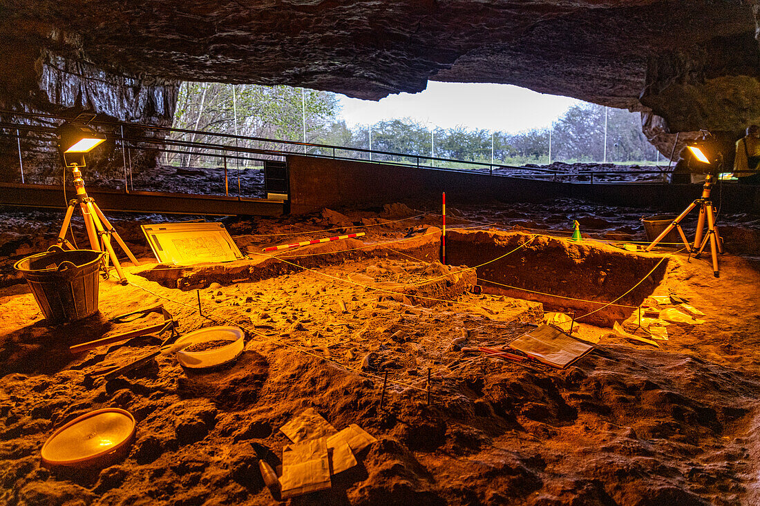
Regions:
M 314 407 L 336 429 L 356 423 L 378 441 L 357 456 L 358 466 L 333 477 L 331 490 L 293 504 L 760 503 L 760 255 L 736 239 L 756 240 L 752 217 L 733 217 L 730 226 L 739 232 L 727 245 L 738 255 L 722 255 L 715 278 L 705 258 L 624 250 L 616 241 L 643 242 L 638 218 L 645 210 L 581 202 L 452 209 L 447 225 L 460 236 L 491 227 L 477 234 L 485 241 L 477 243 L 481 256 L 509 255 L 487 265 L 474 254 L 461 260 L 477 269 L 445 267 L 435 261 L 439 217 L 428 210 L 394 204 L 225 220 L 251 259 L 179 270 L 156 265 L 139 229 L 166 217 L 115 216 L 141 265 L 126 264 L 127 286 L 113 273 L 101 281 L 99 314 L 58 327 L 47 326 L 8 269 L 49 245 L 58 214 L 3 213 L 0 502 L 272 504 L 257 454 L 278 466 L 290 442 L 280 427 Z M 580 244 L 563 239 L 572 219 L 587 236 Z M 268 245 L 359 231 L 366 236 L 281 251 L 279 259 L 261 255 Z M 84 241 L 81 223 L 74 232 Z M 536 244 L 524 239 L 531 236 Z M 486 250 L 488 241 L 495 249 Z M 520 249 L 510 253 L 513 244 Z M 578 251 L 612 264 L 584 266 Z M 614 260 L 621 255 L 630 255 L 632 267 Z M 659 275 L 645 277 L 652 259 L 663 258 Z M 589 283 L 562 283 L 558 266 L 568 259 L 588 269 Z M 510 266 L 527 270 L 538 262 L 546 267 L 535 268 L 533 278 L 546 277 L 546 293 L 584 299 L 573 335 L 594 343 L 593 351 L 565 369 L 470 353 L 511 343 L 550 311 L 572 313 L 572 301 L 537 302 L 540 296 L 522 298 L 520 290 L 477 293 L 475 284 L 486 277 L 525 283 Z M 655 346 L 584 321 L 597 302 L 624 296 L 635 274 L 645 280 L 644 292 L 616 302 L 651 311 L 648 296 L 673 294 L 704 312 L 704 323 L 668 324 L 668 340 Z M 618 286 L 619 279 L 626 282 Z M 157 304 L 179 320 L 182 334 L 214 324 L 241 327 L 244 353 L 201 372 L 163 354 L 107 380 L 95 375 L 98 368 L 154 351 L 160 339 L 68 353 L 72 344 L 160 321 L 152 315 L 109 322 Z M 637 310 L 620 323 L 651 337 L 638 326 Z M 124 460 L 75 475 L 40 466 L 40 448 L 54 429 L 107 406 L 138 422 Z

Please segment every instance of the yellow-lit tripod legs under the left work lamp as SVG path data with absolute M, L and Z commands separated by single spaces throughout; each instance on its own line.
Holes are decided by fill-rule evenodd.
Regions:
M 95 199 L 87 196 L 87 191 L 84 189 L 84 180 L 82 179 L 82 173 L 79 170 L 79 166 L 76 163 L 71 164 L 74 172 L 74 188 L 77 190 L 77 198 L 72 198 L 68 201 L 68 209 L 66 210 L 66 216 L 63 218 L 63 224 L 61 226 L 61 232 L 58 235 L 56 244 L 69 249 L 74 249 L 74 246 L 66 239 L 66 229 L 71 224 L 71 216 L 74 214 L 74 207 L 79 204 L 82 211 L 82 217 L 84 217 L 84 228 L 87 229 L 87 238 L 90 239 L 90 247 L 95 251 L 107 251 L 105 264 L 103 265 L 103 277 L 108 278 L 108 260 L 113 261 L 113 267 L 116 268 L 116 273 L 119 274 L 119 283 L 122 285 L 127 284 L 127 278 L 124 276 L 124 270 L 122 264 L 119 264 L 119 259 L 116 258 L 116 252 L 113 251 L 111 245 L 111 237 L 116 239 L 119 246 L 127 254 L 132 264 L 138 265 L 138 259 L 129 248 L 122 241 L 122 238 L 111 226 L 111 223 L 106 219 L 106 215 L 97 207 Z M 73 233 L 73 232 L 72 232 Z M 98 240 L 100 237 L 100 241 Z

